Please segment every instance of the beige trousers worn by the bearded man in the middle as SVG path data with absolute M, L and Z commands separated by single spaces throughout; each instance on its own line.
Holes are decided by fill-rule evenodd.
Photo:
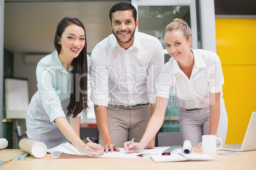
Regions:
M 124 147 L 125 141 L 139 142 L 150 120 L 150 105 L 124 107 L 108 105 L 108 126 L 112 142 L 118 147 Z M 101 136 L 99 143 L 102 145 Z

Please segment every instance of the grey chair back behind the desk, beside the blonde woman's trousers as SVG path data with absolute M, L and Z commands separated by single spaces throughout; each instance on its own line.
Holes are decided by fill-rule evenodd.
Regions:
M 159 147 L 171 147 L 172 145 L 183 145 L 180 132 L 160 132 L 157 134 Z

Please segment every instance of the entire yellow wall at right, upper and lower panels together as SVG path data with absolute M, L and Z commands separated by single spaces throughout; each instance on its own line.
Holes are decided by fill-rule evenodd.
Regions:
M 229 125 L 225 144 L 241 143 L 256 112 L 256 19 L 216 18 Z

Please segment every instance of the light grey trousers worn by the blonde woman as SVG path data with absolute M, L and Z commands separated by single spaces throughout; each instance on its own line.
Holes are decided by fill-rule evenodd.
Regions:
M 196 146 L 202 141 L 202 135 L 209 133 L 210 108 L 186 111 L 180 107 L 180 132 L 182 140 L 189 140 L 192 146 Z M 225 144 L 227 136 L 227 112 L 220 110 L 220 120 L 218 122 L 217 137 L 221 138 Z M 217 143 L 217 145 L 220 143 Z

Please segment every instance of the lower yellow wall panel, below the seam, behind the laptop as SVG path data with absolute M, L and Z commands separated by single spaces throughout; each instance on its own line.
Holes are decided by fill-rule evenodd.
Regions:
M 250 116 L 256 112 L 256 65 L 223 65 L 222 70 L 229 121 L 225 143 L 242 143 Z

